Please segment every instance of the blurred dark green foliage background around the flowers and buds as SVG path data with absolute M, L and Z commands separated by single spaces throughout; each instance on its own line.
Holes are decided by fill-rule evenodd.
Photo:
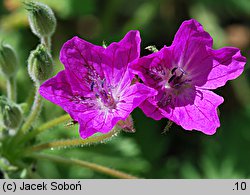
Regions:
M 180 24 L 197 19 L 214 38 L 214 48 L 235 46 L 250 55 L 249 0 L 41 0 L 57 17 L 52 38 L 55 71 L 63 69 L 58 60 L 62 44 L 77 35 L 101 45 L 119 41 L 130 29 L 138 29 L 144 48 L 170 45 Z M 19 0 L 0 0 L 0 40 L 18 52 L 18 102 L 32 103 L 34 90 L 27 74 L 27 58 L 39 40 L 28 26 L 27 13 Z M 250 70 L 216 93 L 225 98 L 220 106 L 221 127 L 213 136 L 185 131 L 173 125 L 162 133 L 167 120 L 154 121 L 140 109 L 133 112 L 136 133 L 121 133 L 105 144 L 45 151 L 75 157 L 144 178 L 250 178 Z M 0 95 L 5 80 L 0 78 Z M 63 110 L 46 101 L 37 125 L 62 115 Z M 40 142 L 79 137 L 77 126 L 53 128 Z M 43 178 L 108 178 L 77 166 L 46 160 L 35 164 Z

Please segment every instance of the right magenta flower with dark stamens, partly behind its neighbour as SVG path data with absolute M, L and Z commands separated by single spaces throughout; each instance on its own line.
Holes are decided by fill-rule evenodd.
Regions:
M 239 49 L 212 49 L 213 40 L 194 19 L 183 22 L 170 47 L 131 64 L 144 84 L 158 90 L 140 108 L 155 120 L 168 118 L 186 130 L 211 135 L 220 126 L 223 98 L 211 90 L 238 77 L 246 63 Z

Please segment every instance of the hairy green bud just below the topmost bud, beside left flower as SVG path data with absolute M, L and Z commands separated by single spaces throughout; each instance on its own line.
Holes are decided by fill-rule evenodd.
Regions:
M 34 82 L 43 82 L 50 77 L 53 70 L 52 57 L 45 45 L 40 44 L 31 51 L 28 59 L 28 72 Z

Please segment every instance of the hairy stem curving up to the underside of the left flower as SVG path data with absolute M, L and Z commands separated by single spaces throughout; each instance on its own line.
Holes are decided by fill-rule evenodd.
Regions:
M 87 139 L 68 139 L 68 140 L 59 140 L 59 141 L 39 144 L 30 148 L 28 152 L 35 152 L 51 148 L 54 149 L 54 148 L 64 148 L 64 147 L 83 146 L 83 145 L 102 143 L 103 141 L 106 141 L 112 138 L 113 136 L 117 135 L 119 131 L 120 130 L 115 127 L 112 131 L 110 131 L 107 134 L 93 136 Z

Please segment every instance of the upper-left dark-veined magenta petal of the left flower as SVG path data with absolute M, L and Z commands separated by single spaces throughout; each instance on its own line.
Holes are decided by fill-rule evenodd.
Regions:
M 104 48 L 93 45 L 78 37 L 74 37 L 67 41 L 60 52 L 60 60 L 65 66 L 69 82 L 75 83 L 73 89 L 78 89 L 77 83 L 80 87 L 88 91 L 90 83 L 87 81 L 89 73 L 96 72 L 103 77 L 102 52 Z M 79 85 L 79 84 L 78 84 Z

